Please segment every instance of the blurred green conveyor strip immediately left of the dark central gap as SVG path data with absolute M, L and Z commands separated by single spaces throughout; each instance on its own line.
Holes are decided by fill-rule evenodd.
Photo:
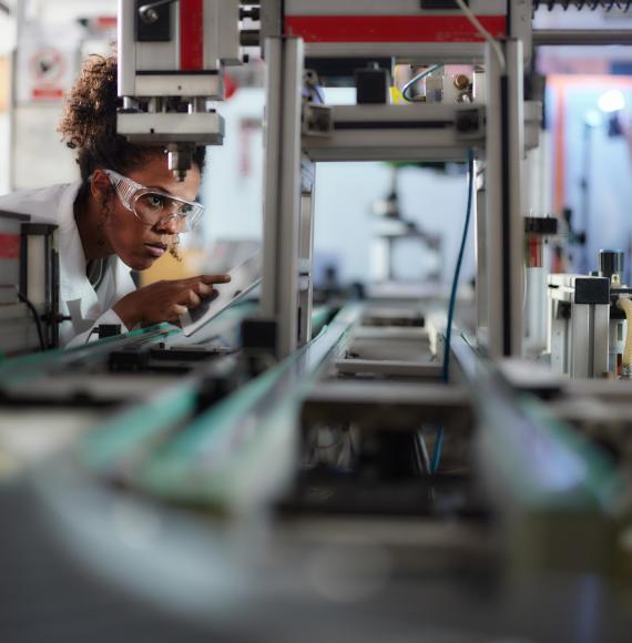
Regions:
M 294 441 L 298 438 L 300 401 L 327 367 L 326 360 L 295 378 L 276 408 L 262 417 L 254 416 L 253 409 L 302 353 L 200 417 L 185 433 L 151 456 L 133 482 L 165 499 L 220 511 L 268 496 L 296 465 Z

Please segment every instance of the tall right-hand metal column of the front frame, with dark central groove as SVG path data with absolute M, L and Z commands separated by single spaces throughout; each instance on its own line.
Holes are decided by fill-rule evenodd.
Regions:
M 521 355 L 523 338 L 522 43 L 510 40 L 501 48 L 504 70 L 489 44 L 486 50 L 488 351 L 492 358 Z

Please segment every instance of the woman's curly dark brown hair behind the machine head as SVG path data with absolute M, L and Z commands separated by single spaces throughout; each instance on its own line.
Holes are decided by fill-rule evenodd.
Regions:
M 115 55 L 89 57 L 79 80 L 65 100 L 63 118 L 58 131 L 72 150 L 78 151 L 77 163 L 81 178 L 86 181 L 98 167 L 109 167 L 121 174 L 137 167 L 164 149 L 155 145 L 135 145 L 116 133 Z M 205 149 L 195 149 L 193 161 L 204 170 Z

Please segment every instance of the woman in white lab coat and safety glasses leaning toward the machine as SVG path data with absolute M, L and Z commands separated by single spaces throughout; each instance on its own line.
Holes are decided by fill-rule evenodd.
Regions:
M 101 324 L 177 323 L 227 275 L 200 275 L 136 289 L 130 275 L 165 252 L 177 256 L 182 233 L 198 223 L 195 203 L 204 170 L 197 147 L 185 181 L 167 169 L 162 147 L 130 144 L 116 134 L 116 59 L 91 57 L 67 100 L 59 131 L 77 150 L 81 181 L 0 198 L 0 210 L 59 226 L 60 327 L 63 345 L 88 341 Z

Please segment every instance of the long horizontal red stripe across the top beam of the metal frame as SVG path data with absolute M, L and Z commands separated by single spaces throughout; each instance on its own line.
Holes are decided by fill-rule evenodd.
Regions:
M 504 16 L 478 16 L 495 38 L 507 34 Z M 288 16 L 285 31 L 305 42 L 479 42 L 463 16 Z

